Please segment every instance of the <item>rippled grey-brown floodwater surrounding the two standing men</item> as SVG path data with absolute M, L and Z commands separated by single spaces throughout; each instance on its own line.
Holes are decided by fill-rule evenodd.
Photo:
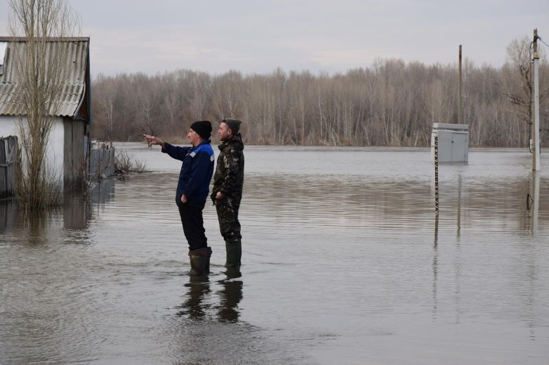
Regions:
M 246 147 L 242 277 L 193 278 L 180 163 L 25 218 L 0 201 L 0 363 L 548 364 L 549 164 L 526 150 Z

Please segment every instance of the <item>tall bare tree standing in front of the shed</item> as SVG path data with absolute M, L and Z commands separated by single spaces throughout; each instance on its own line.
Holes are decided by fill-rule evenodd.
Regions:
M 46 147 L 67 79 L 68 49 L 56 38 L 73 35 L 79 18 L 65 0 L 9 0 L 8 29 L 21 37 L 24 49 L 14 52 L 15 73 L 21 90 L 19 118 L 23 166 L 16 184 L 25 207 L 40 209 L 56 203 L 60 179 L 47 166 Z

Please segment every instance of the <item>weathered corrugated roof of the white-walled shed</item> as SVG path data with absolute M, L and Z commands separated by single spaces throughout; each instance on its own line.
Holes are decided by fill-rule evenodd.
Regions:
M 8 57 L 0 75 L 0 115 L 21 115 L 24 108 L 17 103 L 20 84 L 18 84 L 16 64 L 19 55 L 25 55 L 27 44 L 25 38 L 0 37 L 0 42 L 9 42 Z M 56 116 L 75 116 L 78 106 L 84 97 L 86 88 L 86 64 L 89 38 L 51 38 L 46 43 L 46 56 L 54 62 L 62 62 L 69 70 L 65 87 L 59 95 L 59 108 Z M 66 55 L 63 60 L 56 55 Z M 18 55 L 15 57 L 15 55 Z

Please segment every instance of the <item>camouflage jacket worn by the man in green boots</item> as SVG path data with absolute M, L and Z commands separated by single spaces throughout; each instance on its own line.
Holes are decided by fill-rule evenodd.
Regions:
M 237 134 L 219 146 L 218 164 L 213 175 L 211 199 L 215 202 L 215 194 L 221 192 L 225 196 L 242 199 L 244 184 L 244 143 L 242 136 Z

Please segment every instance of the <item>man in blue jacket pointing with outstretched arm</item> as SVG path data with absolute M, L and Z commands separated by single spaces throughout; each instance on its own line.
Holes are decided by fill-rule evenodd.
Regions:
M 208 247 L 202 210 L 209 193 L 213 175 L 213 149 L 210 144 L 211 123 L 196 121 L 191 125 L 189 142 L 192 147 L 177 147 L 163 140 L 143 134 L 152 144 L 160 144 L 162 152 L 176 160 L 183 161 L 176 191 L 183 233 L 189 243 L 191 275 L 209 273 L 211 248 Z

